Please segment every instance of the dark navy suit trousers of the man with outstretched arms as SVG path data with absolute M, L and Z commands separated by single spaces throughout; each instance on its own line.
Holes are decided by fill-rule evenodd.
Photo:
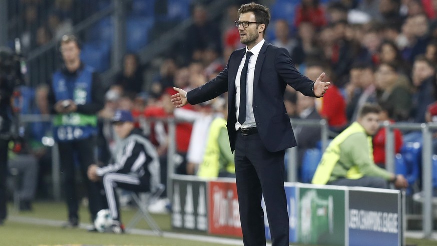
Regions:
M 264 195 L 272 246 L 288 246 L 289 221 L 284 189 L 284 150 L 269 152 L 258 133 L 237 132 L 235 174 L 245 246 L 266 245 Z

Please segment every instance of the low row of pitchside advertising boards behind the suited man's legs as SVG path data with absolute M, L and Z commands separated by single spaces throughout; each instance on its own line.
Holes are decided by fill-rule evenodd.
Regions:
M 242 237 L 235 179 L 173 175 L 175 229 Z M 390 246 L 404 243 L 404 195 L 399 190 L 285 182 L 290 242 Z M 271 239 L 265 213 L 266 238 Z M 270 221 L 273 222 L 274 221 Z

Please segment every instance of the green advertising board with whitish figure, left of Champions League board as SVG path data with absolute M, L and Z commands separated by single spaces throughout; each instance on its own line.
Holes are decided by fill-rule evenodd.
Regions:
M 299 242 L 345 245 L 345 193 L 341 188 L 299 188 Z

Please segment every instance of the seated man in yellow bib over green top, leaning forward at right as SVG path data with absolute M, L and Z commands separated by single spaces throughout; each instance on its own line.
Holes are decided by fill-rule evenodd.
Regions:
M 372 135 L 379 127 L 380 107 L 364 104 L 358 118 L 336 136 L 326 148 L 312 178 L 313 184 L 406 188 L 408 182 L 373 162 Z

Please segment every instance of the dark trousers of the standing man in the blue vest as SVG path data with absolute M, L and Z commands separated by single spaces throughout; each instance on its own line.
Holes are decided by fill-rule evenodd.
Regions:
M 76 164 L 78 164 L 82 181 L 85 183 L 88 192 L 91 221 L 94 221 L 97 212 L 107 207 L 101 182 L 92 182 L 87 176 L 88 167 L 96 162 L 95 138 L 59 142 L 58 148 L 61 161 L 61 178 L 64 184 L 69 219 L 79 218 L 76 191 Z M 77 160 L 77 163 L 75 160 Z

